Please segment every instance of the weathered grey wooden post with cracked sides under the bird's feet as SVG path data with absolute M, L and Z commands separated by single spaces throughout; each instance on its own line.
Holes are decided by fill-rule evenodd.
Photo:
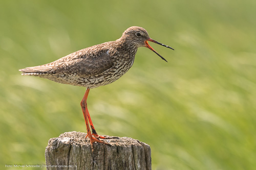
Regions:
M 51 138 L 45 152 L 47 169 L 151 169 L 148 144 L 129 137 L 104 141 L 112 146 L 94 143 L 92 152 L 86 133 L 66 132 Z

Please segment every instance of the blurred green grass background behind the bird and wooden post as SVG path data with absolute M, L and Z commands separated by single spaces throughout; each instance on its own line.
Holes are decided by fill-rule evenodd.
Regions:
M 152 44 L 165 63 L 139 48 L 126 75 L 91 90 L 98 133 L 150 144 L 153 169 L 255 169 L 255 8 L 252 0 L 1 1 L 1 168 L 44 164 L 48 139 L 86 131 L 85 88 L 18 69 L 141 26 L 175 51 Z

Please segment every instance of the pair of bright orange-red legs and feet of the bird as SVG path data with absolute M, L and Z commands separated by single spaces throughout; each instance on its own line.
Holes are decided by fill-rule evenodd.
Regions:
M 84 120 L 86 121 L 86 129 L 87 129 L 87 136 L 89 137 L 90 141 L 91 141 L 91 144 L 92 144 L 92 147 L 93 147 L 93 142 L 101 142 L 101 143 L 104 143 L 106 145 L 111 145 L 109 143 L 106 143 L 106 142 L 103 142 L 103 141 L 100 141 L 98 138 L 100 138 L 94 127 L 93 127 L 93 124 L 92 124 L 92 120 L 91 120 L 91 117 L 90 117 L 90 114 L 89 114 L 89 111 L 87 109 L 87 97 L 88 97 L 88 94 L 89 94 L 89 91 L 90 89 L 88 88 L 86 90 L 86 93 L 84 94 L 83 98 L 82 98 L 82 101 L 81 101 L 81 108 L 82 108 L 82 113 L 83 113 L 83 117 L 84 117 Z M 91 130 L 90 130 L 90 127 L 89 127 L 89 123 L 88 123 L 88 118 L 89 118 L 89 123 L 92 127 L 92 132 L 93 134 L 91 133 Z M 93 135 L 95 135 L 95 137 L 93 137 Z M 86 136 L 86 137 L 87 137 Z

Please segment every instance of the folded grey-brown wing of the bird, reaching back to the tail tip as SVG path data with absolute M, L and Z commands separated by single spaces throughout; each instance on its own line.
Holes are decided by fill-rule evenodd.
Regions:
M 111 68 L 113 60 L 108 49 L 85 48 L 54 62 L 20 69 L 23 74 L 79 74 L 96 75 Z

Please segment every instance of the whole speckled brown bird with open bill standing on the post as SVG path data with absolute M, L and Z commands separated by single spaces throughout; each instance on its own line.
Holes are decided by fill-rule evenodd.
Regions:
M 93 45 L 51 63 L 26 67 L 19 71 L 22 71 L 22 75 L 86 87 L 86 92 L 80 102 L 87 128 L 86 138 L 89 137 L 92 149 L 94 142 L 111 145 L 101 140 L 108 138 L 98 135 L 93 126 L 87 106 L 89 91 L 113 83 L 123 76 L 132 67 L 138 47 L 147 47 L 166 61 L 148 44 L 148 41 L 174 50 L 174 48 L 150 38 L 144 28 L 133 26 L 126 29 L 122 36 L 115 41 Z

